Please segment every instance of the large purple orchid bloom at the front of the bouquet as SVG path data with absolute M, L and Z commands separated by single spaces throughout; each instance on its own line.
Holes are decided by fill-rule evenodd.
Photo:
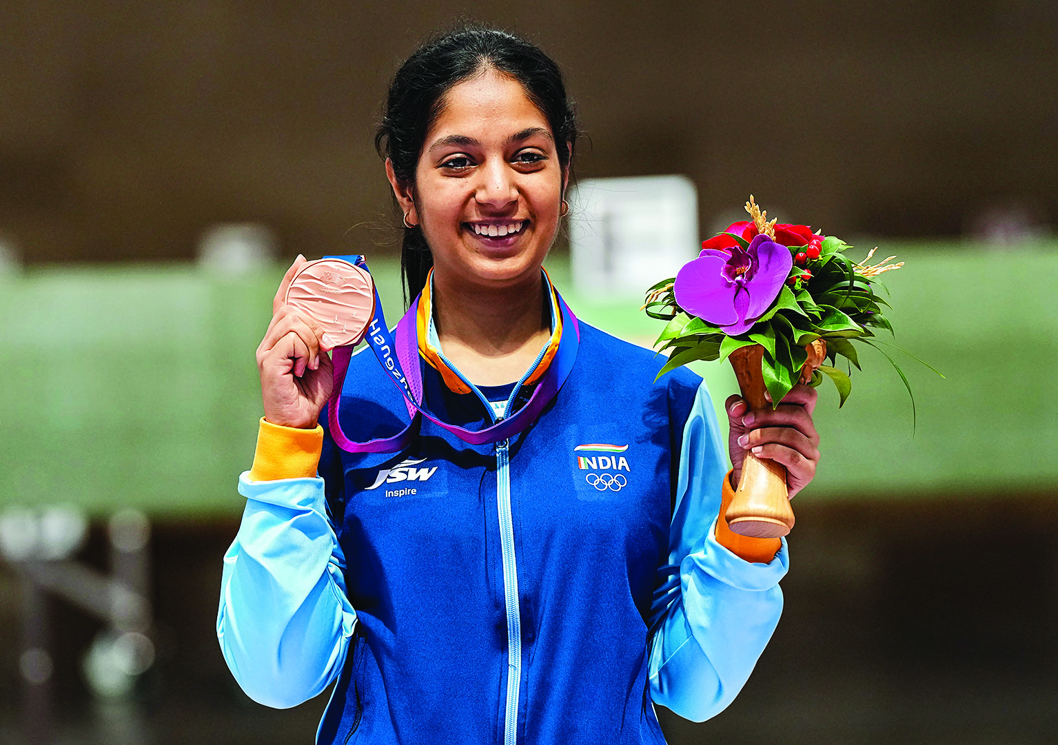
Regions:
M 680 308 L 734 337 L 779 296 L 792 266 L 789 249 L 759 235 L 745 250 L 704 249 L 679 270 L 673 291 Z

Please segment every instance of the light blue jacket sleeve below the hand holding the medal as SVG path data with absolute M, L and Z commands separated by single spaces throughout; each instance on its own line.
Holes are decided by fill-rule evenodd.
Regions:
M 334 682 L 357 614 L 345 557 L 327 516 L 324 479 L 252 481 L 242 523 L 224 555 L 217 638 L 251 698 L 296 706 Z

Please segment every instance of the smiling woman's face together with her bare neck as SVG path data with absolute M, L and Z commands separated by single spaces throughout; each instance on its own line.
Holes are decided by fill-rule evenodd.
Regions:
M 541 267 L 568 169 L 543 112 L 506 73 L 482 67 L 438 108 L 415 181 L 398 179 L 391 159 L 386 172 L 405 222 L 430 247 L 449 360 L 475 382 L 510 383 L 550 335 Z

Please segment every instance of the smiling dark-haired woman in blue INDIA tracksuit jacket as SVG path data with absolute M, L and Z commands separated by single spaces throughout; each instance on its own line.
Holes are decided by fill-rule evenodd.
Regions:
M 394 78 L 379 144 L 421 291 L 408 327 L 422 407 L 451 426 L 338 448 L 316 424 L 328 350 L 281 304 L 302 257 L 276 294 L 217 633 L 263 704 L 336 680 L 317 742 L 661 743 L 651 702 L 722 710 L 778 621 L 785 544 L 717 514 L 746 449 L 786 466 L 791 494 L 811 479 L 815 392 L 774 412 L 729 399 L 725 476 L 701 380 L 654 382 L 663 360 L 576 320 L 542 271 L 576 134 L 558 68 L 503 32 L 439 37 Z M 407 425 L 370 355 L 346 381 L 353 439 Z M 452 432 L 519 412 L 501 438 Z

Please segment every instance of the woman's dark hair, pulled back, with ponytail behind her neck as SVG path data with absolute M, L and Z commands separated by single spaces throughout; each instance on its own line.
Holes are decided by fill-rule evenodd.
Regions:
M 415 183 L 419 153 L 444 94 L 489 68 L 522 84 L 551 127 L 562 170 L 569 168 L 577 116 L 559 66 L 539 47 L 513 34 L 467 25 L 427 40 L 404 60 L 389 83 L 375 147 L 390 160 L 398 182 L 405 186 Z M 406 303 L 422 291 L 434 259 L 418 225 L 403 230 L 400 268 Z

